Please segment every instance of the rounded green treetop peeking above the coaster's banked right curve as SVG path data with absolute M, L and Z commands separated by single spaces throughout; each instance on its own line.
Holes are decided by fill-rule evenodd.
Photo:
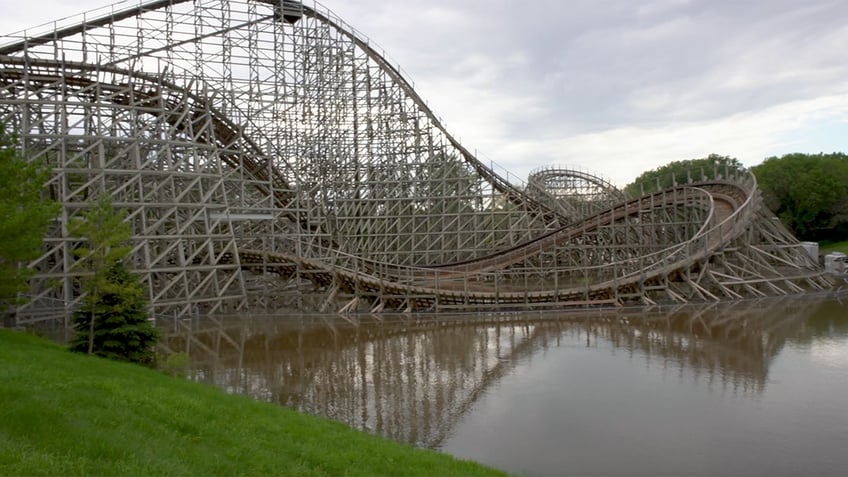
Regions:
M 639 197 L 673 187 L 675 184 L 732 176 L 744 170 L 745 167 L 736 158 L 710 154 L 703 159 L 674 161 L 643 172 L 624 190 L 632 197 Z

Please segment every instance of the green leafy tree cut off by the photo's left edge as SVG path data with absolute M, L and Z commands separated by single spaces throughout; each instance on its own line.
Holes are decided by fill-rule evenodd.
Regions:
M 59 205 L 43 196 L 49 177 L 48 168 L 21 157 L 0 124 L 0 310 L 27 291 L 32 270 L 22 265 L 38 257 L 59 213 Z

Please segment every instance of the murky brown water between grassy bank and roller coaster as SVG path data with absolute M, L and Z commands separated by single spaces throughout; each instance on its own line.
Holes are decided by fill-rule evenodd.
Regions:
M 190 374 L 521 475 L 848 475 L 848 301 L 162 324 Z

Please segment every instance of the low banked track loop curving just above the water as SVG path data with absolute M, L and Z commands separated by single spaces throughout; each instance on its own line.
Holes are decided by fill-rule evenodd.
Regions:
M 731 242 L 744 230 L 744 227 L 738 227 L 735 224 L 739 221 L 738 216 L 745 213 L 745 207 L 751 207 L 752 201 L 748 194 L 749 191 L 740 184 L 728 181 L 713 181 L 666 190 L 624 202 L 608 211 L 565 226 L 531 242 L 475 260 L 407 270 L 398 267 L 380 267 L 379 264 L 366 264 L 366 267 L 371 267 L 373 270 L 383 271 L 383 276 L 356 273 L 345 269 L 331 269 L 317 261 L 255 250 L 244 250 L 241 260 L 245 264 L 278 263 L 284 269 L 282 273 L 288 275 L 294 273 L 296 265 L 299 265 L 309 269 L 311 278 L 322 285 L 332 283 L 335 276 L 344 284 L 346 291 L 368 290 L 375 297 L 387 290 L 399 296 L 420 296 L 422 298 L 419 298 L 417 305 L 427 307 L 432 306 L 436 300 L 452 304 L 507 306 L 525 304 L 529 301 L 535 303 L 537 307 L 540 304 L 548 306 L 587 303 L 620 304 L 617 300 L 611 299 L 616 289 L 636 287 L 685 270 L 705 257 L 709 257 L 719 247 Z M 704 199 L 708 200 L 710 208 L 704 226 L 687 242 L 675 244 L 657 252 L 655 255 L 662 256 L 662 259 L 657 259 L 656 266 L 640 266 L 628 273 L 626 266 L 622 264 L 621 268 L 625 272 L 621 276 L 588 288 L 563 286 L 556 289 L 533 290 L 528 293 L 526 288 L 515 290 L 507 287 L 496 290 L 493 285 L 476 285 L 473 288 L 467 286 L 469 280 L 477 279 L 480 275 L 503 270 L 545 251 L 555 250 L 576 237 L 600 227 L 609 226 L 625 217 L 634 216 L 645 208 L 679 204 L 688 206 Z M 647 258 L 640 257 L 640 263 L 644 263 Z M 607 264 L 607 266 L 616 267 L 616 264 Z M 413 277 L 411 283 L 404 283 L 405 279 L 410 277 Z M 387 283 L 387 280 L 390 283 Z M 360 293 L 360 296 L 362 295 L 363 293 Z M 588 296 L 590 301 L 582 301 L 584 296 Z

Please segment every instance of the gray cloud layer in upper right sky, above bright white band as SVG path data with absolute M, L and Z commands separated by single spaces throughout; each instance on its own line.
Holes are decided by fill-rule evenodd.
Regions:
M 705 120 L 846 89 L 840 45 L 848 44 L 848 9 L 840 1 L 431 0 L 338 8 L 391 45 L 413 77 L 461 78 L 504 96 L 536 97 L 547 105 L 541 121 L 574 133 Z

